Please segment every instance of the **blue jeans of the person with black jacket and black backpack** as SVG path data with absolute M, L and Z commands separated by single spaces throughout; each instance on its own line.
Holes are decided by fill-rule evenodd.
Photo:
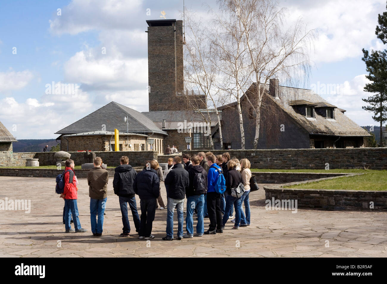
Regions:
M 197 209 L 196 233 L 198 235 L 204 234 L 203 206 L 204 194 L 187 197 L 187 217 L 185 218 L 187 235 L 194 235 L 194 219 L 192 218 L 192 214 L 195 208 Z

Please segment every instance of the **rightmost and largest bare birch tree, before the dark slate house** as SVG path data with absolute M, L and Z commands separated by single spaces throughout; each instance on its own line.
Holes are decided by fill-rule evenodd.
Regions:
M 236 26 L 242 25 L 244 41 L 251 60 L 252 78 L 257 83 L 253 102 L 255 109 L 255 138 L 257 148 L 262 108 L 262 88 L 272 77 L 291 78 L 298 70 L 308 73 L 310 61 L 307 49 L 315 36 L 307 30 L 301 19 L 286 28 L 285 9 L 279 9 L 273 0 L 224 0 L 218 1 L 221 9 L 228 9 L 238 18 Z M 265 89 L 265 88 L 264 88 Z

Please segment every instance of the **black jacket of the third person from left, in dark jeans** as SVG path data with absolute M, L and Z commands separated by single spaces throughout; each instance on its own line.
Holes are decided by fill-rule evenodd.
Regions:
M 122 197 L 134 197 L 133 182 L 137 172 L 131 165 L 120 165 L 115 168 L 113 189 L 114 194 Z

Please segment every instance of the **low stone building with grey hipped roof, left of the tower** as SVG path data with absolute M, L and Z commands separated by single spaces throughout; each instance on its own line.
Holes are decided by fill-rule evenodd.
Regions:
M 114 129 L 119 131 L 121 151 L 163 153 L 163 140 L 168 134 L 141 112 L 116 102 L 104 105 L 55 134 L 60 134 L 62 151 L 114 151 Z

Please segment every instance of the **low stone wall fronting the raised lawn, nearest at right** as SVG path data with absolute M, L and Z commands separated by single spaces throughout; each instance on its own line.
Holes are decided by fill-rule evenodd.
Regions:
M 297 200 L 297 207 L 328 210 L 387 209 L 387 191 L 283 189 L 265 186 L 266 200 Z M 373 208 L 370 208 L 373 202 Z

